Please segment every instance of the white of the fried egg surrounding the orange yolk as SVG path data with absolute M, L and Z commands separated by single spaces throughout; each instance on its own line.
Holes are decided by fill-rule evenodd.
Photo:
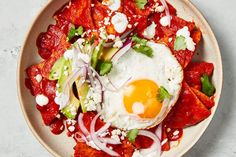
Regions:
M 115 63 L 112 71 L 104 79 L 110 79 L 118 88 L 135 80 L 152 80 L 159 87 L 165 87 L 172 97 L 170 100 L 164 100 L 160 113 L 154 119 L 143 119 L 126 111 L 123 104 L 125 87 L 119 91 L 105 90 L 102 118 L 114 127 L 124 130 L 153 127 L 165 118 L 178 100 L 183 81 L 181 65 L 165 45 L 148 42 L 148 46 L 154 50 L 152 58 L 131 48 Z

